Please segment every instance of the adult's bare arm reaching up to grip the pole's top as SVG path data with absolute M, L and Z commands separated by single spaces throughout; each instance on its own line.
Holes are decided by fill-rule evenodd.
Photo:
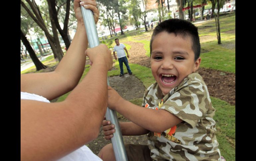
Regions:
M 80 8 L 80 0 L 74 1 L 74 11 L 77 19 L 75 36 L 59 65 L 53 72 L 21 74 L 21 91 L 38 94 L 52 100 L 71 91 L 79 82 L 84 71 L 88 46 L 86 30 Z M 95 0 L 85 0 L 86 9 L 93 11 L 95 22 L 99 11 Z

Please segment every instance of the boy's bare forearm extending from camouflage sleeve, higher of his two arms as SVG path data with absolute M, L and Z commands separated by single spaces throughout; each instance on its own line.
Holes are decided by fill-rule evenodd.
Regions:
M 114 89 L 108 86 L 108 107 L 135 124 L 154 132 L 163 132 L 182 122 L 181 119 L 166 110 L 143 108 L 124 100 Z

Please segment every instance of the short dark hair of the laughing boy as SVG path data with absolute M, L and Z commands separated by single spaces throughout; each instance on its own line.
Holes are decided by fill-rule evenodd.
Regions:
M 152 41 L 163 31 L 174 33 L 176 36 L 179 35 L 183 38 L 190 36 L 192 40 L 192 50 L 195 54 L 194 60 L 196 61 L 199 58 L 201 46 L 197 27 L 195 27 L 191 22 L 182 19 L 168 19 L 156 26 L 150 40 L 150 56 L 152 52 Z

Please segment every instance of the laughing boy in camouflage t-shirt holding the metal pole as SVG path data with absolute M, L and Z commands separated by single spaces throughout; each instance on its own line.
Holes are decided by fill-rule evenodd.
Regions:
M 108 87 L 108 107 L 131 121 L 120 122 L 122 135 L 148 133 L 148 145 L 125 145 L 128 159 L 220 161 L 215 109 L 202 77 L 195 73 L 201 62 L 197 28 L 185 20 L 163 21 L 153 32 L 150 53 L 156 82 L 144 94 L 144 108 Z M 114 125 L 102 125 L 105 138 L 113 137 Z M 112 145 L 98 156 L 115 160 Z

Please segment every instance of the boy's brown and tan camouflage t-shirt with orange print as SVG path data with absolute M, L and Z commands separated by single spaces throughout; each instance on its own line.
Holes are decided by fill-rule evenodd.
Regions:
M 162 133 L 149 132 L 153 160 L 220 160 L 213 120 L 215 109 L 198 73 L 188 75 L 165 96 L 157 83 L 152 84 L 145 92 L 142 107 L 163 109 L 183 120 Z

